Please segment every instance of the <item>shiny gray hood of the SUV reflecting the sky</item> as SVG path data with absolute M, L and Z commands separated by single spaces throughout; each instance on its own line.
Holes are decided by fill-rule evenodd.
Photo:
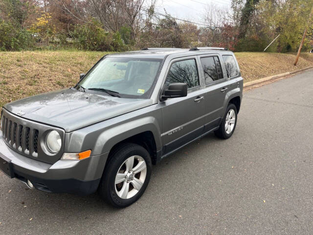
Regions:
M 33 121 L 66 132 L 152 105 L 151 99 L 129 99 L 66 89 L 17 100 L 3 107 Z

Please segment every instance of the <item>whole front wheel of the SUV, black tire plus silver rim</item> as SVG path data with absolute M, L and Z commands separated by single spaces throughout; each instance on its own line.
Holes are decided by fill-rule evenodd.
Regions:
M 100 196 L 116 208 L 132 205 L 146 190 L 151 167 L 151 157 L 145 148 L 133 143 L 123 144 L 112 153 L 105 167 L 98 189 Z

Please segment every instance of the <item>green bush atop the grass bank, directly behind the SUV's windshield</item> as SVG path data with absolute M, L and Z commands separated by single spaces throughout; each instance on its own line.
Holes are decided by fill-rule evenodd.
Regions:
M 122 51 L 126 49 L 118 32 L 106 32 L 96 20 L 75 25 L 71 35 L 75 46 L 79 49 L 97 51 Z

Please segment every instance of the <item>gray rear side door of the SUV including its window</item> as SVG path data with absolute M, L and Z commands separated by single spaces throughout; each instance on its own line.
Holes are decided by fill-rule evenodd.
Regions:
M 217 127 L 224 116 L 223 106 L 228 90 L 227 76 L 223 72 L 219 54 L 199 56 L 201 74 L 204 77 L 205 132 Z

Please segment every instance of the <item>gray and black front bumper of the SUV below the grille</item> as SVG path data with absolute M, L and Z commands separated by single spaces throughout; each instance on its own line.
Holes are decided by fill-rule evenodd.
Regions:
M 3 141 L 0 131 L 0 157 L 10 163 L 11 176 L 46 192 L 88 195 L 97 190 L 108 153 L 87 159 L 59 160 L 47 164 L 13 151 Z

